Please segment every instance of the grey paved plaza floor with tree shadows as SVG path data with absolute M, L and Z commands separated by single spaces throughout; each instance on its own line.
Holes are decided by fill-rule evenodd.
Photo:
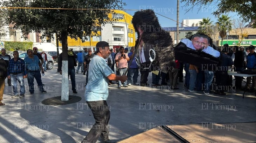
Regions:
M 61 96 L 61 75 L 56 70 L 55 64 L 42 77 L 47 93 L 40 93 L 35 88 L 35 94 L 30 95 L 25 79 L 25 98 L 11 98 L 13 89 L 6 80 L 2 100 L 6 105 L 0 106 L 0 143 L 80 143 L 87 135 L 94 118 L 85 102 L 86 76 L 80 73 L 81 70 L 76 74 L 78 93 L 72 93 L 69 81 L 69 95 L 82 100 L 60 106 L 41 103 L 44 99 Z M 161 125 L 201 124 L 205 129 L 204 125 L 209 123 L 256 122 L 254 93 L 246 92 L 244 98 L 240 90 L 226 92 L 225 96 L 204 95 L 202 91 L 188 92 L 181 82 L 178 90 L 152 86 L 151 73 L 148 80 L 150 85 L 145 87 L 132 85 L 118 89 L 117 84 L 110 85 L 107 103 L 111 113 L 109 138 L 112 142 Z M 36 81 L 34 83 L 36 87 Z M 256 142 L 256 133 L 253 136 Z

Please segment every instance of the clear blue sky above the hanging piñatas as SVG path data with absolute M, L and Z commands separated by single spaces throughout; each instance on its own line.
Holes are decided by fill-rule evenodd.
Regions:
M 176 21 L 177 19 L 177 0 L 122 0 L 127 5 L 124 9 L 153 9 L 155 13 L 159 13 L 163 16 L 171 18 Z M 211 13 L 214 11 L 214 6 L 209 6 L 198 11 L 198 7 L 195 7 L 193 11 L 186 13 L 185 9 L 182 8 L 185 3 L 180 3 L 179 22 L 185 19 L 201 19 L 211 18 L 213 22 L 217 21 Z M 134 15 L 135 10 L 126 10 L 130 15 Z M 186 13 L 186 14 L 185 14 Z M 161 27 L 176 27 L 176 22 L 166 17 L 156 14 L 158 17 Z M 228 14 L 230 17 L 235 17 L 234 13 Z

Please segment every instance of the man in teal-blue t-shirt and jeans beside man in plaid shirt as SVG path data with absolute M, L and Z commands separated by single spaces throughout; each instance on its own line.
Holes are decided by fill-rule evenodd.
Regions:
M 24 58 L 26 70 L 27 70 L 27 78 L 28 78 L 28 86 L 29 86 L 29 92 L 30 94 L 34 94 L 34 78 L 39 86 L 39 91 L 41 93 L 46 93 L 46 91 L 43 89 L 43 84 L 41 80 L 41 73 L 40 69 L 42 71 L 42 74 L 45 73 L 45 71 L 42 68 L 41 62 L 38 58 L 38 56 L 33 54 L 33 51 L 31 49 L 27 50 L 28 56 Z

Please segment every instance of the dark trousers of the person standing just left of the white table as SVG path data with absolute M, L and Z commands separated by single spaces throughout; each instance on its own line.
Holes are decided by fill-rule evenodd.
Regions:
M 225 89 L 228 89 L 228 71 L 216 71 L 215 78 L 216 91 L 220 91 L 220 93 L 223 93 Z

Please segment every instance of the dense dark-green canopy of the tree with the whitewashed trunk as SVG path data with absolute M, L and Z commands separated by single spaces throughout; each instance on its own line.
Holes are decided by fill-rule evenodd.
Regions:
M 21 29 L 23 35 L 34 31 L 41 33 L 41 38 L 54 39 L 54 34 L 58 33 L 57 37 L 61 39 L 61 33 L 65 32 L 67 36 L 79 37 L 84 42 L 86 36 L 98 36 L 97 29 L 110 21 L 109 9 L 122 9 L 125 3 L 120 0 L 8 0 L 3 5 L 28 7 L 5 9 L 7 23 Z

